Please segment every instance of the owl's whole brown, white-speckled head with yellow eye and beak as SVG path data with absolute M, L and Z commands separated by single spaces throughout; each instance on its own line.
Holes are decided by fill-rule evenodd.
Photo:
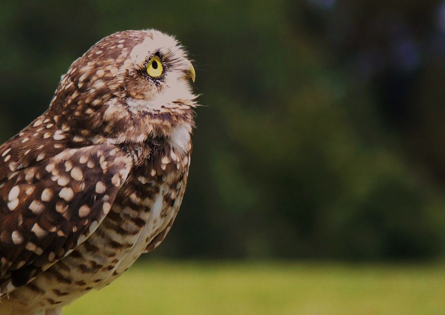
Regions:
M 124 31 L 93 45 L 62 77 L 49 111 L 95 136 L 168 135 L 193 126 L 195 70 L 178 41 L 155 30 Z M 94 142 L 94 141 L 93 141 Z

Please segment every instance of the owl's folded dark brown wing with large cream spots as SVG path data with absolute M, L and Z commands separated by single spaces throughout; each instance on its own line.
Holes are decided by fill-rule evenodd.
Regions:
M 30 282 L 85 241 L 107 215 L 132 166 L 119 148 L 100 144 L 65 149 L 38 164 L 2 172 L 0 295 Z

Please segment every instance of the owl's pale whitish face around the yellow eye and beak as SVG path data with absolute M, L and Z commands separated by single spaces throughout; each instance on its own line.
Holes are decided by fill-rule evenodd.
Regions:
M 160 32 L 150 35 L 130 52 L 125 84 L 129 108 L 154 112 L 194 99 L 189 79 L 194 82 L 195 70 L 182 47 Z

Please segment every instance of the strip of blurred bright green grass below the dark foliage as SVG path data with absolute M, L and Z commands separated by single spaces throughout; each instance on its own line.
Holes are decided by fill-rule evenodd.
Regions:
M 64 315 L 445 314 L 445 267 L 139 263 Z

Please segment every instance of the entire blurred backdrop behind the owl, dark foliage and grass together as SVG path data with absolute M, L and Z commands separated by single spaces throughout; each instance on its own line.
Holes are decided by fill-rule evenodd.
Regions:
M 71 62 L 113 32 L 174 34 L 194 60 L 205 106 L 180 214 L 118 280 L 122 288 L 151 270 L 154 279 L 132 287 L 163 290 L 133 295 L 132 305 L 159 304 L 156 314 L 445 314 L 445 1 L 0 4 L 1 141 L 45 111 Z M 403 299 L 388 295 L 406 289 Z M 97 301 L 125 295 L 118 290 L 68 311 L 105 314 Z M 163 295 L 175 290 L 196 295 Z M 341 310 L 353 300 L 356 309 Z M 116 310 L 106 314 L 136 314 Z

